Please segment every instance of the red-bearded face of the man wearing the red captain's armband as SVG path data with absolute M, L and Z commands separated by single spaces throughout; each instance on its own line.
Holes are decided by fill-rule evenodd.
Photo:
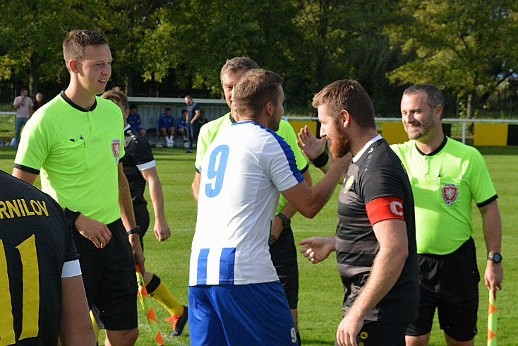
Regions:
M 320 137 L 327 138 L 329 150 L 333 157 L 342 157 L 351 151 L 351 141 L 344 129 L 342 113 L 338 119 L 327 114 L 327 107 L 317 107 L 318 121 L 320 121 Z M 345 111 L 342 111 L 345 112 Z

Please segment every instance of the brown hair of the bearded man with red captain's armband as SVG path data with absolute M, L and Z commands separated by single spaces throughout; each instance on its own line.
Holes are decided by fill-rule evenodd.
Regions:
M 327 115 L 335 121 L 339 112 L 345 109 L 359 126 L 376 127 L 373 101 L 356 80 L 336 80 L 320 90 L 313 97 L 313 107 L 322 105 L 325 105 Z

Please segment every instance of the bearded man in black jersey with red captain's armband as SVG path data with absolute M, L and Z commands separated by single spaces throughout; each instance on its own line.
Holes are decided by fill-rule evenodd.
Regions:
M 401 161 L 375 129 L 371 97 L 354 80 L 337 80 L 313 98 L 322 124 L 318 140 L 307 126 L 299 146 L 323 172 L 351 153 L 338 201 L 336 234 L 304 239 L 312 263 L 336 251 L 344 285 L 344 318 L 337 345 L 405 345 L 417 316 L 418 276 L 414 199 Z

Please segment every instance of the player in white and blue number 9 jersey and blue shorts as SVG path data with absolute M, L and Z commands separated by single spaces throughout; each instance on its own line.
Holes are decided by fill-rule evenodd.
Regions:
M 260 69 L 243 75 L 234 88 L 240 121 L 215 138 L 203 159 L 189 275 L 191 345 L 297 345 L 268 250 L 279 191 L 313 217 L 347 165 L 335 160 L 309 188 L 274 132 L 284 112 L 281 82 Z

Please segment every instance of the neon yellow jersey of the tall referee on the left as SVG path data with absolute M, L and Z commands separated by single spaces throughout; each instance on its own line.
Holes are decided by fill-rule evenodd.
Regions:
M 118 163 L 124 120 L 114 102 L 96 97 L 87 111 L 61 93 L 25 125 L 15 167 L 40 172 L 42 191 L 63 208 L 109 224 L 119 219 Z

